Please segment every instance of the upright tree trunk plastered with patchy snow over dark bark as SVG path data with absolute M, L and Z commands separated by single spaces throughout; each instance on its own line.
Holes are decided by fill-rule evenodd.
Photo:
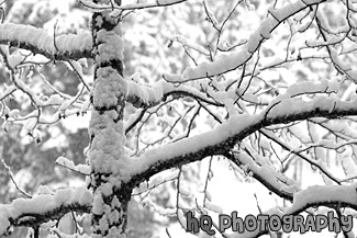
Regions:
M 121 23 L 109 12 L 92 15 L 96 60 L 93 104 L 89 125 L 91 188 L 93 190 L 92 237 L 126 237 L 126 208 L 131 191 L 121 188 L 127 161 L 124 150 L 123 112 L 125 81 Z

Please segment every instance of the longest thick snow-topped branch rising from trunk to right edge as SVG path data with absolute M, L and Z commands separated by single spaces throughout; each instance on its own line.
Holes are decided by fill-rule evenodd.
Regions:
M 225 156 L 236 143 L 266 126 L 311 117 L 348 115 L 357 115 L 357 100 L 346 102 L 324 95 L 311 101 L 286 99 L 260 114 L 234 115 L 210 132 L 147 150 L 132 162 L 132 181 L 142 182 L 158 171 L 199 161 L 208 156 Z

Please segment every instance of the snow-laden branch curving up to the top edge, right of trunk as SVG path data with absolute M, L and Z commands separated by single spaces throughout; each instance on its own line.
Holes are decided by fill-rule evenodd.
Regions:
M 271 32 L 291 15 L 309 8 L 313 4 L 319 4 L 325 0 L 313 1 L 297 1 L 281 9 L 270 10 L 268 16 L 261 22 L 260 26 L 249 36 L 247 43 L 237 53 L 223 55 L 215 61 L 205 61 L 197 67 L 187 68 L 180 75 L 165 75 L 165 78 L 171 82 L 185 82 L 193 79 L 217 76 L 238 68 L 248 61 L 253 54 L 260 47 L 261 43 L 270 37 Z

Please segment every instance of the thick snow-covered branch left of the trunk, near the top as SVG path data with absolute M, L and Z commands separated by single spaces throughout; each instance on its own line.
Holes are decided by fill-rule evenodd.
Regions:
M 54 37 L 44 29 L 3 23 L 0 24 L 0 44 L 24 48 L 49 59 L 68 60 L 91 58 L 92 38 L 85 31 Z

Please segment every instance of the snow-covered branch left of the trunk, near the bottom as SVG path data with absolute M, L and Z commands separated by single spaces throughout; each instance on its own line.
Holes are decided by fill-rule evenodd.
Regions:
M 16 199 L 11 204 L 0 205 L 0 237 L 13 226 L 40 225 L 69 212 L 89 213 L 91 203 L 91 192 L 85 188 L 58 190 L 54 195 Z

